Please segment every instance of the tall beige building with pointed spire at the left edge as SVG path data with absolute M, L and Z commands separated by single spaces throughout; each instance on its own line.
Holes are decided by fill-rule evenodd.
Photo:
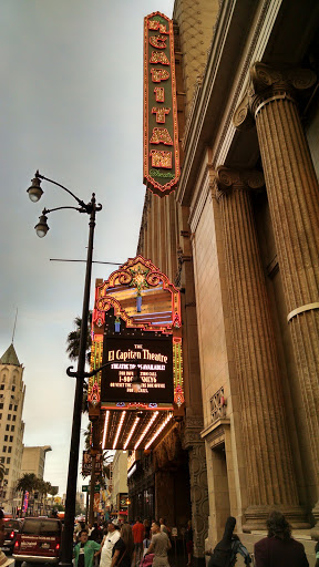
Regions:
M 16 514 L 20 496 L 16 485 L 21 476 L 22 440 L 24 423 L 22 410 L 25 386 L 13 344 L 0 359 L 0 462 L 4 465 L 4 478 L 0 485 L 0 505 Z

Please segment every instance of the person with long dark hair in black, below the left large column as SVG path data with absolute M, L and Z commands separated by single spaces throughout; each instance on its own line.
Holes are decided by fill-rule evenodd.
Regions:
M 229 516 L 226 520 L 223 538 L 216 545 L 214 551 L 207 553 L 207 555 L 210 555 L 208 567 L 234 567 L 238 553 L 244 557 L 245 565 L 251 563 L 250 555 L 245 545 L 234 534 L 236 518 Z

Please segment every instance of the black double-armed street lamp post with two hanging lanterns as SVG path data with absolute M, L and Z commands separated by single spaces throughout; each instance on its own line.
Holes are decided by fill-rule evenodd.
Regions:
M 90 215 L 89 223 L 89 244 L 88 244 L 88 256 L 86 256 L 86 270 L 85 270 L 85 282 L 83 292 L 83 306 L 82 306 L 82 322 L 80 331 L 80 348 L 78 359 L 78 370 L 72 375 L 76 379 L 75 394 L 74 394 L 74 406 L 73 406 L 73 421 L 72 421 L 72 433 L 71 433 L 71 445 L 70 445 L 70 458 L 69 458 L 69 472 L 68 472 L 68 485 L 66 485 L 66 501 L 65 501 L 65 515 L 64 515 L 64 529 L 62 534 L 61 545 L 61 561 L 60 565 L 63 567 L 72 567 L 73 556 L 73 528 L 74 528 L 74 515 L 75 515 L 75 499 L 76 499 L 76 478 L 78 478 L 78 466 L 79 466 L 79 446 L 80 446 L 80 430 L 81 430 L 81 414 L 82 414 L 82 399 L 83 399 L 83 382 L 85 377 L 85 353 L 86 353 L 86 333 L 88 333 L 88 321 L 89 321 L 89 303 L 90 303 L 90 286 L 91 286 L 91 274 L 92 274 L 92 257 L 93 257 L 93 240 L 94 240 L 94 228 L 95 228 L 95 214 L 102 209 L 102 205 L 96 205 L 95 194 L 92 194 L 90 203 L 85 204 L 70 189 L 61 185 L 60 183 L 49 179 L 39 172 L 35 173 L 32 179 L 32 185 L 28 189 L 30 199 L 37 203 L 43 190 L 40 187 L 40 179 L 44 179 L 49 183 L 58 185 L 63 190 L 69 193 L 80 205 L 80 207 L 58 207 L 54 209 L 43 209 L 42 215 L 39 219 L 38 225 L 34 227 L 40 238 L 44 237 L 49 230 L 47 225 L 47 215 L 53 210 L 60 210 L 64 208 L 73 208 L 79 213 L 86 213 Z M 70 375 L 70 374 L 69 374 Z

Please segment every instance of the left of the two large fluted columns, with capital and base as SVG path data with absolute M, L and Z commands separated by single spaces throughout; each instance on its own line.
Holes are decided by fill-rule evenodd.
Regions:
M 264 186 L 264 176 L 260 172 L 219 167 L 216 183 L 247 463 L 244 530 L 265 527 L 269 509 L 276 505 L 296 527 L 306 527 L 298 505 L 281 377 L 249 195 Z

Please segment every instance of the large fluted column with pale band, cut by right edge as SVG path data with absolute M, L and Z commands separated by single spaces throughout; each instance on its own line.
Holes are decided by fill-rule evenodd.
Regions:
M 319 188 L 296 99 L 316 82 L 307 69 L 250 70 L 250 118 L 241 105 L 235 125 L 256 121 L 279 269 L 298 369 L 309 446 L 307 477 L 319 498 Z M 315 504 L 313 502 L 313 504 Z M 319 502 L 313 509 L 319 537 Z

